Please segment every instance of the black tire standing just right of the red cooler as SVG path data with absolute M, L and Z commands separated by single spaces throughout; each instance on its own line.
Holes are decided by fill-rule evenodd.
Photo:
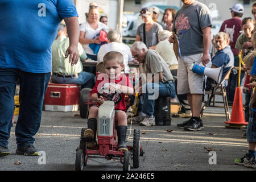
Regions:
M 81 118 L 86 118 L 87 117 L 87 113 L 88 113 L 88 97 L 90 95 L 90 91 L 92 89 L 90 88 L 83 88 L 81 90 L 81 94 L 80 94 L 80 103 L 79 103 L 79 110 L 80 110 L 80 116 Z

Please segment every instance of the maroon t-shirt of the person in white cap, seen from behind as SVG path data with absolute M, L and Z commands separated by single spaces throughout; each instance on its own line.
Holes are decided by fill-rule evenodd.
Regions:
M 240 36 L 242 30 L 242 20 L 240 18 L 231 18 L 225 20 L 220 28 L 220 32 L 229 34 L 230 47 L 234 55 L 239 55 L 239 49 L 236 49 L 237 38 Z

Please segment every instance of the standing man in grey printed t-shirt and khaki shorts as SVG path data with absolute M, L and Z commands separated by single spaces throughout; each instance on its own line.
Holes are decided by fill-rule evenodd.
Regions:
M 210 62 L 211 26 L 210 11 L 203 3 L 181 0 L 183 6 L 175 16 L 172 31 L 179 41 L 180 56 L 177 71 L 177 94 L 187 94 L 192 118 L 177 127 L 197 131 L 203 129 L 200 119 L 205 79 L 189 70 L 192 63 L 208 66 Z M 170 36 L 174 43 L 174 35 Z

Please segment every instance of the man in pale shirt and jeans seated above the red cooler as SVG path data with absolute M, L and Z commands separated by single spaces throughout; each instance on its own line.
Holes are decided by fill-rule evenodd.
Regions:
M 52 82 L 56 84 L 77 84 L 82 88 L 93 88 L 94 75 L 82 71 L 81 60 L 86 59 L 86 53 L 81 44 L 78 44 L 79 63 L 71 65 L 65 50 L 69 46 L 69 39 L 64 30 L 59 30 L 57 39 L 52 44 Z

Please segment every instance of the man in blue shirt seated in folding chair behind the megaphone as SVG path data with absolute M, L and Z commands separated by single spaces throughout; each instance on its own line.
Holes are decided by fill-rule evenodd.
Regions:
M 234 65 L 234 55 L 229 46 L 229 34 L 225 32 L 218 32 L 215 36 L 216 54 L 212 58 L 212 66 L 210 68 L 224 67 L 222 77 L 225 76 L 229 68 Z M 212 90 L 214 80 L 210 77 L 207 78 L 207 87 L 205 90 Z M 227 86 L 228 83 L 224 83 Z

